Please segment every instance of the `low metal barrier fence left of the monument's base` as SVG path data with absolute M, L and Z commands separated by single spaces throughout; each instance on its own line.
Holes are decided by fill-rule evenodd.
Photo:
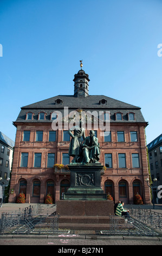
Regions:
M 56 205 L 34 205 L 11 213 L 2 213 L 0 234 L 50 234 L 59 230 Z

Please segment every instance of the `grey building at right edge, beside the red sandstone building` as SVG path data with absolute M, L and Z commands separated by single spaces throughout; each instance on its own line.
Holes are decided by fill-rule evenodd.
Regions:
M 162 185 L 162 133 L 157 138 L 153 139 L 153 141 L 147 145 L 147 148 L 152 181 L 154 178 L 157 178 L 154 185 L 154 198 L 157 198 L 158 203 L 162 203 L 162 199 L 157 197 L 158 186 Z

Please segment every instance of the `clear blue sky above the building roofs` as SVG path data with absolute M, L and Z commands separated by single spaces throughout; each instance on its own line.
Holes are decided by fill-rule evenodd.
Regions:
M 0 131 L 15 141 L 22 106 L 72 95 L 82 59 L 89 94 L 141 107 L 150 143 L 162 133 L 161 13 L 160 0 L 1 0 Z

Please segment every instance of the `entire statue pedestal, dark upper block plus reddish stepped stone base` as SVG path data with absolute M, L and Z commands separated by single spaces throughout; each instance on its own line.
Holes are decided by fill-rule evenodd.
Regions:
M 101 189 L 100 163 L 69 164 L 70 187 L 57 202 L 59 228 L 100 230 L 109 228 L 114 202 Z

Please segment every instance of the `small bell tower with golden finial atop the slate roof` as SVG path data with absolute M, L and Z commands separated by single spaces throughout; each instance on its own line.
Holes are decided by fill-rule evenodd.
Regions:
M 80 60 L 81 69 L 74 75 L 74 96 L 75 97 L 86 97 L 89 95 L 89 76 L 82 70 L 82 60 Z

